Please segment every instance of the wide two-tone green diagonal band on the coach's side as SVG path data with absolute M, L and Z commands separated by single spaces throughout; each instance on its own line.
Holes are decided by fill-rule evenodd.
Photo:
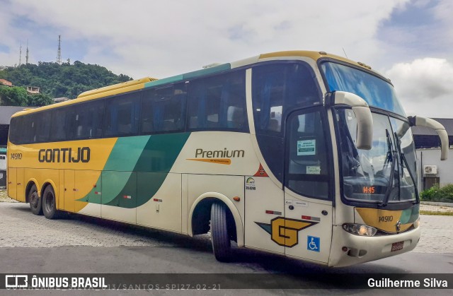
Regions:
M 108 158 L 108 165 L 105 165 L 110 170 L 104 169 L 101 174 L 102 199 L 99 201 L 90 199 L 90 202 L 122 208 L 142 206 L 161 188 L 189 136 L 190 133 L 161 134 L 134 137 L 130 142 L 126 140 L 131 138 L 117 141 Z M 144 143 L 143 139 L 147 139 L 147 142 Z M 131 147 L 131 145 L 137 146 Z M 128 150 L 137 149 L 137 147 L 142 147 L 142 153 L 128 155 Z M 119 158 L 120 155 L 121 158 Z M 131 169 L 130 172 L 124 172 L 125 167 Z M 93 196 L 94 191 L 96 190 L 92 189 L 89 194 Z M 79 201 L 86 201 L 86 196 Z

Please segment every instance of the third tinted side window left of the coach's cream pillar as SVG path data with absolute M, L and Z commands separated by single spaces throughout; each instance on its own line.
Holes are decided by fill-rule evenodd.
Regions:
M 138 134 L 140 94 L 118 95 L 105 101 L 105 137 Z

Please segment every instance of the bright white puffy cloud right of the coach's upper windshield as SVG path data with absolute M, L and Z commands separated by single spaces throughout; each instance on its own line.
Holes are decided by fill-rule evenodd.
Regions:
M 447 59 L 426 57 L 398 63 L 386 76 L 409 114 L 452 117 L 453 64 Z

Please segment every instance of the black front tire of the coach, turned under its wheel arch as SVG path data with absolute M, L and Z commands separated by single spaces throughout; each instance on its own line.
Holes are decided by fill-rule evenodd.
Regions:
M 211 206 L 211 241 L 215 259 L 221 262 L 231 260 L 231 241 L 226 222 L 224 203 L 212 203 Z

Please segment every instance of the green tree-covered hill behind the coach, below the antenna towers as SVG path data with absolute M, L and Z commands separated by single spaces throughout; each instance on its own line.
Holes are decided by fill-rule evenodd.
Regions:
M 84 64 L 81 61 L 61 65 L 40 61 L 38 65 L 23 64 L 18 67 L 6 67 L 0 70 L 0 78 L 11 81 L 13 85 L 24 90 L 27 86 L 38 86 L 42 96 L 39 98 L 32 95 L 28 99 L 24 99 L 23 92 L 18 88 L 13 88 L 14 90 L 10 88 L 8 94 L 4 93 L 4 88 L 0 88 L 3 105 L 25 104 L 29 106 L 47 105 L 46 102 L 50 103 L 48 99 L 55 97 L 74 99 L 86 90 L 132 80 L 127 75 L 116 75 L 103 66 Z M 11 97 L 13 93 L 14 95 Z

